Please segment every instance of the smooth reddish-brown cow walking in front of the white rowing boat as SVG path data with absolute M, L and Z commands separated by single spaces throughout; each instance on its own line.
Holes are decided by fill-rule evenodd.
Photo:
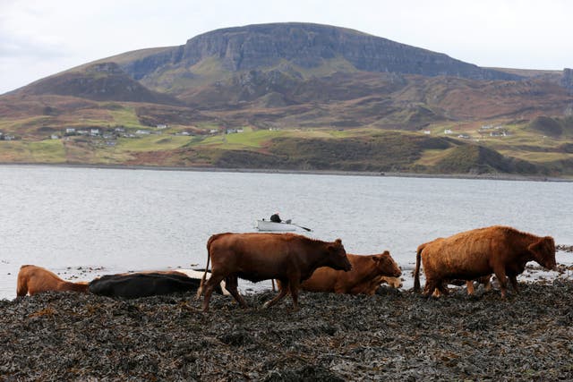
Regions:
M 284 285 L 278 295 L 264 306 L 268 308 L 285 297 L 290 290 L 293 307 L 298 309 L 298 289 L 302 281 L 318 267 L 350 270 L 346 250 L 340 239 L 321 242 L 295 233 L 218 233 L 207 242 L 207 267 L 212 260 L 211 276 L 205 275 L 197 292 L 201 296 L 205 285 L 203 311 L 209 310 L 213 286 L 225 279 L 227 291 L 245 308 L 243 297 L 237 291 L 238 277 L 259 282 L 276 278 Z

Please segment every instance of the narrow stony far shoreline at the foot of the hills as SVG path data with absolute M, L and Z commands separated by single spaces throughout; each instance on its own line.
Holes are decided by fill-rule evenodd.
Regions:
M 100 168 L 108 170 L 153 170 L 153 171 L 195 171 L 211 173 L 250 173 L 250 174 L 309 174 L 309 175 L 339 175 L 339 176 L 388 176 L 404 178 L 438 178 L 438 179 L 478 179 L 490 181 L 521 181 L 521 182 L 573 182 L 573 178 L 557 178 L 542 175 L 519 174 L 420 174 L 372 171 L 341 171 L 341 170 L 295 170 L 269 168 L 225 168 L 225 167 L 177 167 L 177 166 L 130 166 L 130 165 L 91 165 L 71 163 L 13 163 L 2 162 L 0 166 L 49 166 L 66 168 Z

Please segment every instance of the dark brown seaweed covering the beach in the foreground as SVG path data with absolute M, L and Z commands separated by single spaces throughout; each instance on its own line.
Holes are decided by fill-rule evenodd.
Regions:
M 192 293 L 114 300 L 43 293 L 0 301 L 1 380 L 571 380 L 573 281 L 425 299 L 273 293 L 243 310 Z

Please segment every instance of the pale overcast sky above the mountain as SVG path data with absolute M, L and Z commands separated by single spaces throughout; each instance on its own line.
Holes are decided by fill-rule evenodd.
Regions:
M 110 55 L 284 21 L 360 30 L 480 66 L 573 67 L 568 0 L 0 0 L 0 94 Z

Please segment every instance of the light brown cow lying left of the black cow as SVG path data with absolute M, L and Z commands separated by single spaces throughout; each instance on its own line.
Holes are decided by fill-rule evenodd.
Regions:
M 30 293 L 31 296 L 47 291 L 88 293 L 89 286 L 87 282 L 72 283 L 62 280 L 55 273 L 43 267 L 25 265 L 21 266 L 20 272 L 18 272 L 16 295 L 20 297 Z

